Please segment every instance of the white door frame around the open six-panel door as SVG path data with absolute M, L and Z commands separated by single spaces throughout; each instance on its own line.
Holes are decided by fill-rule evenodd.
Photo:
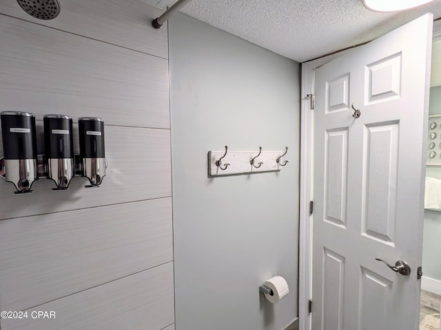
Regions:
M 433 22 L 433 41 L 441 39 L 441 20 Z M 335 58 L 351 52 L 344 50 L 313 61 L 302 63 L 301 104 L 300 104 L 300 227 L 298 264 L 298 329 L 311 329 L 309 300 L 312 298 L 312 215 L 309 214 L 309 201 L 314 200 L 314 110 L 311 98 L 315 95 L 315 70 Z M 314 307 L 313 307 L 314 308 Z

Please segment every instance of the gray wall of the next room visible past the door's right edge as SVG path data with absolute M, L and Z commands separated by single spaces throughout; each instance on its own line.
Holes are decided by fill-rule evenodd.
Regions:
M 441 86 L 431 87 L 429 115 L 440 113 Z M 427 166 L 426 176 L 441 179 L 440 166 Z M 422 244 L 422 269 L 424 276 L 441 281 L 441 212 L 424 210 L 424 237 Z

